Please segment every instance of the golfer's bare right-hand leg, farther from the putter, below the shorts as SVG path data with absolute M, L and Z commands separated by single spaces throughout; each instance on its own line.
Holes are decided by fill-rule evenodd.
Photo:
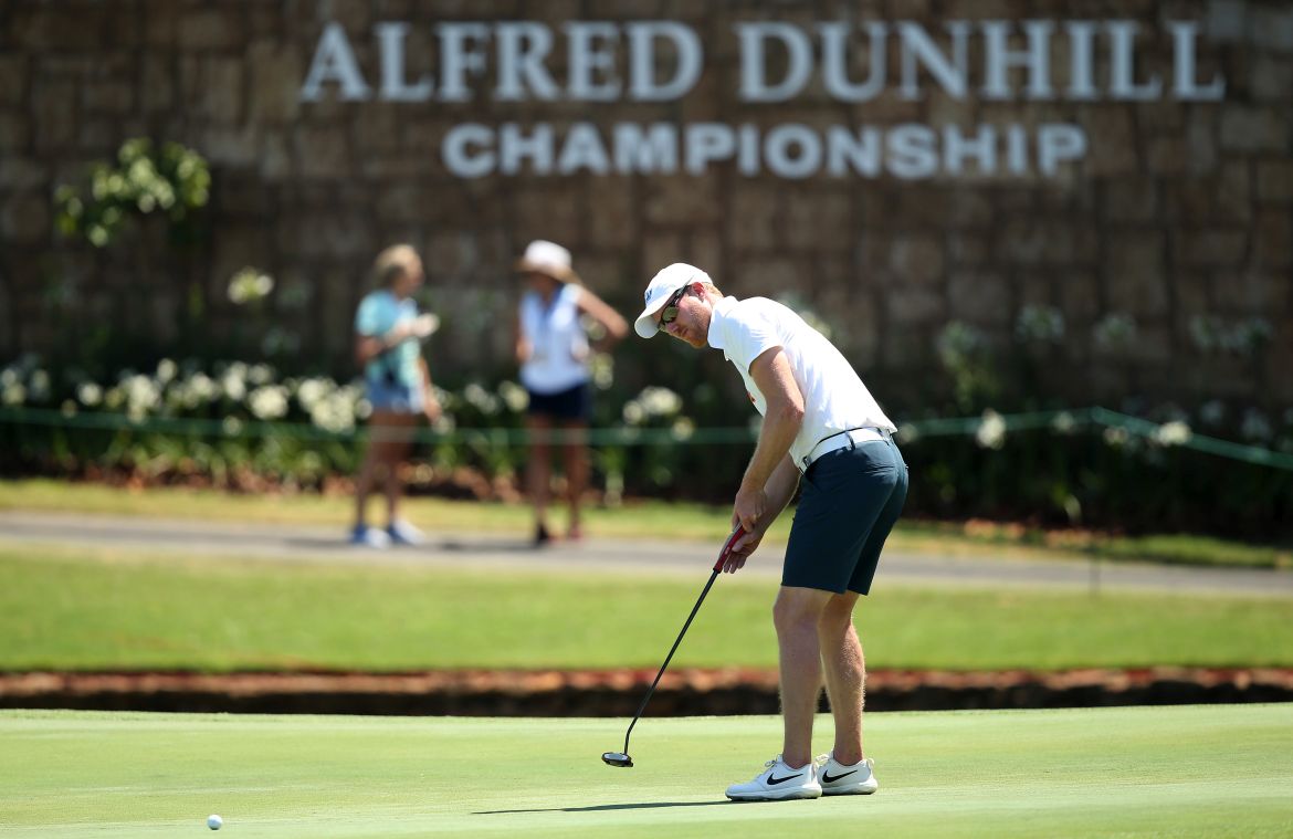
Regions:
M 830 712 L 835 717 L 835 760 L 846 765 L 862 759 L 866 662 L 853 627 L 857 597 L 851 591 L 833 595 L 817 623 L 826 694 L 830 697 Z

